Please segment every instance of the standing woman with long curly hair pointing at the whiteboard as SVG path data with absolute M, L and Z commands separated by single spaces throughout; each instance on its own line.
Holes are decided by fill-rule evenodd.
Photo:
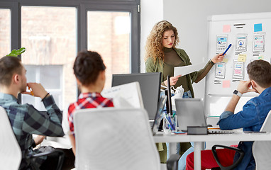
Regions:
M 192 64 L 187 53 L 176 47 L 178 42 L 179 37 L 177 29 L 172 26 L 170 22 L 160 21 L 156 23 L 150 31 L 150 35 L 147 38 L 145 46 L 145 71 L 161 72 L 161 85 L 163 86 L 167 86 L 167 75 L 169 75 L 170 86 L 174 86 L 176 89 L 178 86 L 182 85 L 184 88 L 183 98 L 194 98 L 192 83 L 197 83 L 203 79 L 216 62 L 222 62 L 224 56 L 222 54 L 216 55 L 207 62 L 203 69 L 197 72 L 192 72 L 184 76 L 177 75 L 174 77 L 175 67 Z M 181 143 L 180 148 L 179 145 L 177 145 L 177 153 L 184 153 L 179 160 L 179 170 L 185 169 L 185 159 L 189 153 L 194 151 L 194 143 L 191 142 L 191 145 L 192 147 L 190 147 L 189 143 Z M 165 147 L 165 145 L 163 145 L 163 147 Z M 162 150 L 163 153 L 160 152 L 161 162 L 165 162 L 166 149 Z

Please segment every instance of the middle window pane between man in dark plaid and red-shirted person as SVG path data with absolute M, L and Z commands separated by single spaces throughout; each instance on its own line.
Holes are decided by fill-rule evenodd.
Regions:
M 22 62 L 28 65 L 28 82 L 42 84 L 61 110 L 67 110 L 76 100 L 72 70 L 77 53 L 76 11 L 74 7 L 48 6 L 22 6 L 21 9 L 21 46 L 26 47 Z M 23 103 L 27 101 L 30 99 L 23 97 Z M 34 103 L 39 110 L 45 109 L 40 98 L 35 98 Z

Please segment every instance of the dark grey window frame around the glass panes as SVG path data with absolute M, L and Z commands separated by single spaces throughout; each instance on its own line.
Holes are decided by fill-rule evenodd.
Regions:
M 21 7 L 75 7 L 77 10 L 76 53 L 87 49 L 87 11 L 124 11 L 131 13 L 131 73 L 140 73 L 140 0 L 0 0 L 0 8 L 11 9 L 11 49 L 21 48 Z M 75 58 L 74 54 L 74 58 Z M 18 56 L 21 58 L 21 55 Z M 77 96 L 79 89 L 77 89 Z M 77 98 L 76 98 L 77 99 Z M 18 96 L 21 103 L 21 95 Z

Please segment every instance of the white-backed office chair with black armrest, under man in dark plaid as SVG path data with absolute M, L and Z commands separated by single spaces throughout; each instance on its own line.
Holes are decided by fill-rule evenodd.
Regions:
M 4 108 L 0 106 L 0 160 L 1 169 L 17 170 L 21 164 L 21 148 L 18 145 L 9 117 Z M 50 152 L 42 152 L 33 154 L 31 156 L 31 166 L 33 169 L 38 170 L 38 166 L 35 164 L 36 157 L 42 157 L 46 155 L 55 154 L 59 156 L 57 170 L 62 169 L 64 161 L 64 152 L 61 150 L 52 150 Z

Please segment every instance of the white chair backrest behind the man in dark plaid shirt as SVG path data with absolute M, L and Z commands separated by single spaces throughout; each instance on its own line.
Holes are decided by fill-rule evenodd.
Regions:
M 0 160 L 1 169 L 17 170 L 21 164 L 21 148 L 18 145 L 4 108 L 0 107 Z

